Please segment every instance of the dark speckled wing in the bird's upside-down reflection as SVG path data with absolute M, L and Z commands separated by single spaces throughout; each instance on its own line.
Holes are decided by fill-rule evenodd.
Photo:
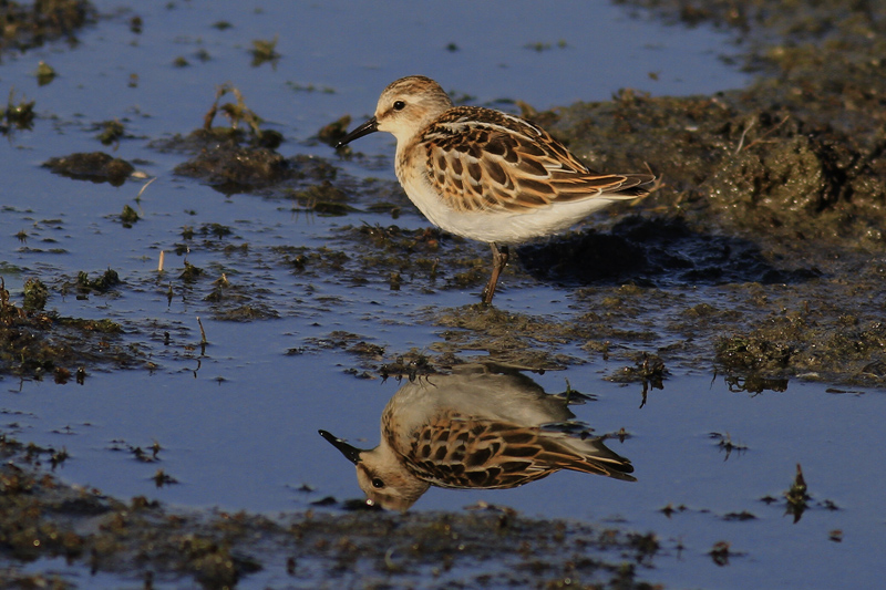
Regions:
M 583 456 L 537 427 L 488 420 L 431 421 L 415 433 L 404 459 L 416 477 L 451 488 L 512 488 L 558 469 L 632 479 L 624 474 L 632 470 L 627 459 Z

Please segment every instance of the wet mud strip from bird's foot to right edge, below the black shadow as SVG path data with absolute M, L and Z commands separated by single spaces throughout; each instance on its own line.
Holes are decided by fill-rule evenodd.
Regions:
M 548 369 L 598 358 L 630 370 L 655 356 L 671 369 L 715 369 L 730 379 L 882 384 L 882 272 L 864 263 L 855 272 L 854 284 L 835 275 L 678 288 L 600 281 L 576 290 L 568 313 L 556 317 L 478 304 L 435 310 L 429 320 L 444 331 L 430 350 L 483 351 Z

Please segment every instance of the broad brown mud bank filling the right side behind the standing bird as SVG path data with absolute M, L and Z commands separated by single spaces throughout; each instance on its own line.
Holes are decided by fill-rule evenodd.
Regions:
M 622 92 L 534 113 L 590 167 L 645 161 L 662 187 L 602 236 L 530 248 L 525 268 L 573 284 L 597 279 L 579 290 L 589 315 L 652 341 L 643 327 L 663 327 L 679 340 L 657 351 L 666 362 L 883 383 L 882 23 L 842 2 L 799 12 L 649 6 L 668 20 L 734 28 L 760 79 L 713 96 Z M 627 256 L 612 260 L 614 248 Z M 600 288 L 600 278 L 617 286 Z

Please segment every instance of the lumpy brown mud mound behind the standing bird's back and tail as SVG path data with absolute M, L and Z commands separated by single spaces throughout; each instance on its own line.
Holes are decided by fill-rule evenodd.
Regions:
M 886 220 L 886 136 L 862 144 L 854 131 L 770 104 L 781 100 L 750 90 L 704 99 L 622 93 L 612 103 L 567 107 L 552 123 L 594 167 L 655 163 L 662 187 L 645 206 L 679 213 L 700 229 L 795 255 L 824 244 L 883 250 L 876 228 Z M 616 135 L 631 138 L 610 149 Z M 607 145 L 606 157 L 595 157 L 597 145 Z

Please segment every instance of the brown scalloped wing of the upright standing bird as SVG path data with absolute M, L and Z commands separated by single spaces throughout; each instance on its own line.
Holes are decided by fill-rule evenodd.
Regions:
M 459 211 L 528 213 L 554 201 L 646 194 L 645 174 L 595 174 L 522 118 L 476 106 L 446 111 L 422 133 L 432 185 Z

